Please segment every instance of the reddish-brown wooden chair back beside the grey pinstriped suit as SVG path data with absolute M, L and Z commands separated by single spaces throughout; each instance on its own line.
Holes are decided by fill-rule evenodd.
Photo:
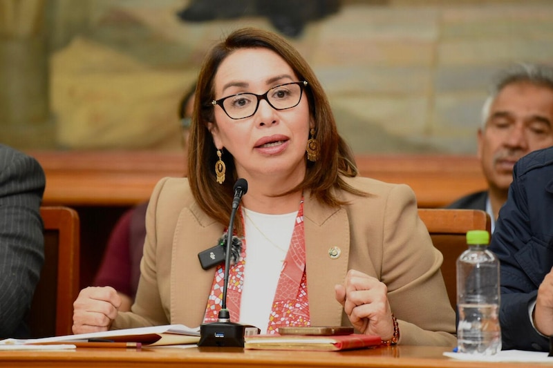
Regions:
M 79 215 L 64 206 L 42 206 L 44 266 L 28 323 L 33 338 L 72 334 L 79 293 Z

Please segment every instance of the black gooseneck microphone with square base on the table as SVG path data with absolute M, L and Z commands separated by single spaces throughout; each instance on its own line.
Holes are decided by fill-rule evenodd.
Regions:
M 230 221 L 228 233 L 232 233 L 234 226 L 234 217 L 238 204 L 243 195 L 247 192 L 247 181 L 243 178 L 236 180 L 234 184 L 234 198 L 232 200 L 232 211 L 230 212 Z M 244 347 L 244 335 L 246 333 L 245 325 L 230 321 L 230 313 L 227 309 L 227 289 L 229 283 L 229 269 L 231 259 L 232 236 L 227 236 L 227 250 L 225 251 L 225 276 L 223 284 L 223 300 L 221 301 L 221 311 L 217 322 L 204 323 L 200 326 L 200 341 L 198 347 Z M 254 327 L 256 331 L 258 330 Z

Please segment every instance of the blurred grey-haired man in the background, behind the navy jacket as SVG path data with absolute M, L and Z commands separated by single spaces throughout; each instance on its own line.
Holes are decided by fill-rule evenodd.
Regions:
M 465 195 L 449 209 L 480 209 L 491 217 L 507 201 L 514 164 L 528 153 L 553 146 L 553 68 L 517 64 L 496 76 L 482 107 L 478 159 L 488 188 Z

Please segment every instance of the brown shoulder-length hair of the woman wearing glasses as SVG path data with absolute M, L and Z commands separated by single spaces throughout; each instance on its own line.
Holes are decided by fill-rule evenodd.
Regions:
M 190 130 L 188 167 L 191 191 L 200 208 L 221 224 L 225 226 L 229 224 L 234 197 L 233 186 L 238 179 L 234 157 L 223 150 L 222 159 L 227 167 L 226 180 L 223 184 L 218 184 L 215 175 L 217 149 L 207 129 L 207 122 L 215 122 L 212 100 L 214 99 L 214 77 L 218 67 L 232 52 L 242 48 L 272 50 L 290 65 L 299 81 L 308 81 L 305 95 L 308 97 L 310 114 L 315 122 L 315 139 L 321 148 L 320 155 L 317 162 L 307 161 L 306 155 L 306 177 L 296 188 L 292 188 L 287 193 L 308 189 L 313 197 L 329 206 L 344 204 L 335 195 L 334 188 L 365 195 L 346 184 L 340 177 L 340 175 L 357 176 L 355 159 L 349 146 L 337 132 L 326 93 L 307 61 L 288 41 L 274 32 L 258 28 L 242 28 L 232 32 L 209 50 L 198 75 L 194 116 Z M 234 226 L 238 234 L 242 234 L 241 222 L 236 221 Z

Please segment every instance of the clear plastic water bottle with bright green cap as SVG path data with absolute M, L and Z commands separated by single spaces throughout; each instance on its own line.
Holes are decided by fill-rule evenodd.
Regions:
M 487 231 L 468 231 L 469 249 L 457 260 L 460 353 L 493 355 L 501 350 L 499 260 L 488 243 Z

